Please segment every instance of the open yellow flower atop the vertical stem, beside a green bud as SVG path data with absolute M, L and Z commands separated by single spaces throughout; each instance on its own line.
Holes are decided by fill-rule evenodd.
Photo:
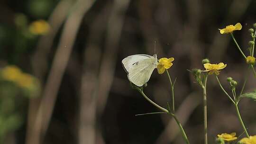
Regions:
M 219 63 L 219 64 L 210 64 L 210 63 L 204 63 L 203 64 L 204 68 L 206 69 L 205 71 L 202 72 L 209 72 L 208 74 L 213 74 L 213 72 L 216 75 L 219 75 L 220 70 L 224 69 L 227 64 L 224 63 Z

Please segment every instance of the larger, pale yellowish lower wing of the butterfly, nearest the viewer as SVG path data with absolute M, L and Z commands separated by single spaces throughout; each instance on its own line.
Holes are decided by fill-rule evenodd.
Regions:
M 157 58 L 151 57 L 136 62 L 129 68 L 128 79 L 135 85 L 141 87 L 150 78 L 157 66 Z

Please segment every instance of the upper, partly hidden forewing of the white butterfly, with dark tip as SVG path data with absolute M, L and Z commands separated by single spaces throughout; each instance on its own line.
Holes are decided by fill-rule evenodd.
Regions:
M 134 54 L 130 55 L 122 60 L 122 64 L 124 66 L 124 69 L 126 72 L 130 71 L 130 68 L 133 67 L 133 65 L 139 61 L 148 59 L 148 58 L 154 58 L 151 55 L 148 54 Z

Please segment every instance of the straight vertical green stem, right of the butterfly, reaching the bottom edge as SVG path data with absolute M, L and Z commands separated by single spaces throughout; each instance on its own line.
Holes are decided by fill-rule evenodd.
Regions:
M 207 77 L 205 76 L 204 84 L 203 84 L 203 123 L 204 123 L 204 144 L 207 144 L 207 95 L 206 95 L 206 83 Z

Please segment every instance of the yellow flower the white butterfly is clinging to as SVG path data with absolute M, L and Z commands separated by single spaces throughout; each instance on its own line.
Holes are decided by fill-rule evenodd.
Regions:
M 166 69 L 169 69 L 172 65 L 173 65 L 173 62 L 174 61 L 174 58 L 171 57 L 171 58 L 160 58 L 159 61 L 158 61 L 158 64 L 157 64 L 157 71 L 159 74 L 162 74 L 165 72 Z

